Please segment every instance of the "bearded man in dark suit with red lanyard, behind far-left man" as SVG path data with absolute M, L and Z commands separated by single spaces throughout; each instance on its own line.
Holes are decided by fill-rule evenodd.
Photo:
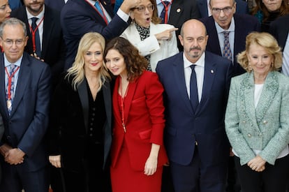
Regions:
M 31 33 L 32 17 L 37 17 L 40 36 L 40 55 L 35 55 L 48 64 L 52 71 L 52 84 L 56 86 L 60 74 L 64 71 L 65 43 L 60 25 L 60 13 L 44 4 L 44 0 L 24 0 L 24 6 L 13 10 L 11 17 L 16 17 L 26 24 L 29 36 L 24 51 L 34 55 L 34 39 Z

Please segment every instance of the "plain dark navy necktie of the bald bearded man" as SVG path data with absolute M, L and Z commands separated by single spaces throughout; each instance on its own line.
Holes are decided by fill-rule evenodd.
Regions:
M 197 110 L 199 105 L 199 96 L 198 96 L 198 85 L 197 77 L 195 75 L 195 65 L 190 66 L 192 69 L 191 80 L 190 80 L 190 101 L 193 107 L 193 111 Z

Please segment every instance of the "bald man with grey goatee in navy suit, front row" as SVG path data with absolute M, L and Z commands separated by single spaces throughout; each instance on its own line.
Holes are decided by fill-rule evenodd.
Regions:
M 229 156 L 224 115 L 232 62 L 205 51 L 208 36 L 198 20 L 183 24 L 179 40 L 184 52 L 156 67 L 165 89 L 164 134 L 172 182 L 175 192 L 221 192 Z M 193 73 L 196 81 L 190 80 Z M 191 90 L 193 83 L 198 91 Z M 194 107 L 192 101 L 198 104 Z

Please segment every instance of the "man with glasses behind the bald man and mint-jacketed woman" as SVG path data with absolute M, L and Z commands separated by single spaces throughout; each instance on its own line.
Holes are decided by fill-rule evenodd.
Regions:
M 212 16 L 200 19 L 209 35 L 207 51 L 226 57 L 233 62 L 233 75 L 244 73 L 236 55 L 245 50 L 246 36 L 260 31 L 258 20 L 251 15 L 235 14 L 235 0 L 210 0 Z

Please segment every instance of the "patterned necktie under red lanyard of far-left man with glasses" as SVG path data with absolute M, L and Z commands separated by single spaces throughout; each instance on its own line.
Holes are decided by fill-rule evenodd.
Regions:
M 9 76 L 8 76 L 8 81 L 6 84 L 6 100 L 7 100 L 7 109 L 8 109 L 9 115 L 12 110 L 12 103 L 13 103 L 13 98 L 15 94 L 15 74 L 14 74 L 15 67 L 16 66 L 14 64 L 10 64 Z M 10 86 L 9 86 L 9 79 L 11 81 Z M 8 98 L 9 88 L 10 88 L 10 99 Z

